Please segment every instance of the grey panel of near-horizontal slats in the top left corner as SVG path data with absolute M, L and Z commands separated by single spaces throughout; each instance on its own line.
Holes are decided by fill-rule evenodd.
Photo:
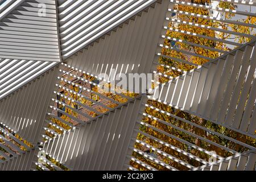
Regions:
M 20 3 L 21 2 L 21 3 Z M 55 2 L 53 2 L 53 5 L 46 5 L 46 9 L 55 9 Z M 27 12 L 31 12 L 34 10 L 33 8 L 36 7 L 37 13 L 40 12 L 40 9 L 37 8 L 39 5 L 39 2 L 24 2 L 24 1 L 17 1 L 16 10 L 18 10 L 20 7 L 23 7 L 27 10 Z M 32 8 L 32 9 L 30 9 Z M 7 42 L 9 40 L 15 42 L 14 38 L 18 38 L 17 36 L 22 35 L 21 37 L 24 38 L 24 36 L 34 36 L 34 40 L 42 40 L 42 38 L 51 38 L 52 42 L 58 43 L 57 41 L 57 23 L 56 23 L 56 17 L 55 18 L 45 18 L 45 17 L 39 17 L 39 15 L 32 16 L 32 14 L 27 15 L 19 15 L 15 14 L 18 13 L 18 11 L 10 12 L 8 16 L 6 16 L 5 19 L 1 19 L 1 31 L 2 34 L 6 34 L 8 36 L 5 36 L 5 39 L 7 39 Z M 34 10 L 35 11 L 35 10 Z M 54 12 L 56 13 L 56 12 Z M 32 24 L 31 24 L 32 23 Z M 11 35 L 11 36 L 10 36 Z M 15 37 L 16 36 L 16 37 Z M 20 38 L 21 38 L 20 37 Z M 55 40 L 54 40 L 55 39 Z M 2 43 L 3 46 L 6 46 Z M 16 59 L 16 57 L 19 57 L 19 59 L 27 59 L 27 60 L 39 60 L 39 61 L 60 61 L 60 53 L 59 48 L 56 50 L 51 50 L 51 52 L 44 52 L 45 48 L 42 48 L 40 46 L 37 46 L 36 49 L 30 51 L 27 51 L 27 43 L 23 43 L 24 46 L 19 47 L 5 47 L 5 49 L 1 49 L 2 51 L 1 57 L 8 57 L 10 59 Z M 28 44 L 29 46 L 29 44 Z M 37 51 L 36 51 L 37 50 Z M 40 55 L 40 56 L 38 56 Z M 50 56 L 50 55 L 55 55 Z M 22 58 L 23 57 L 23 58 Z M 37 57 L 37 58 L 36 58 Z M 49 58 L 52 58 L 50 60 Z

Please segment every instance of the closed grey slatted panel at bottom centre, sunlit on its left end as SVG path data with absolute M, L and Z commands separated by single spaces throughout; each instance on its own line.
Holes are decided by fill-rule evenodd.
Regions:
M 129 135 L 133 133 L 131 123 L 136 118 L 136 114 L 131 113 L 139 109 L 140 103 L 135 99 L 76 129 L 45 138 L 42 151 L 72 170 L 122 169 Z M 126 119 L 121 119 L 123 117 Z

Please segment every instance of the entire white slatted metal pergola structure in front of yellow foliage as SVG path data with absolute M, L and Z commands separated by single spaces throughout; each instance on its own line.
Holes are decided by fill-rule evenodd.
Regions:
M 131 161 L 149 170 L 158 170 L 156 166 L 179 170 L 174 163 L 193 171 L 255 170 L 256 147 L 246 139 L 200 125 L 148 102 L 158 101 L 244 138 L 256 139 L 256 24 L 240 20 L 256 17 L 256 2 L 213 2 L 234 3 L 241 8 L 230 10 L 175 0 L 0 1 L 0 170 L 138 170 Z M 234 18 L 180 11 L 175 5 L 233 13 Z M 181 20 L 177 15 L 243 26 L 250 28 L 251 34 L 199 24 L 189 18 Z M 170 22 L 176 27 L 170 27 Z M 222 32 L 232 39 L 180 30 L 180 24 L 216 34 Z M 223 43 L 229 49 L 169 37 L 167 31 Z M 237 42 L 233 39 L 236 37 L 249 41 Z M 218 56 L 212 58 L 173 44 L 167 46 L 164 40 L 215 51 Z M 167 55 L 163 48 L 187 57 Z M 189 61 L 191 56 L 208 61 L 198 65 Z M 159 63 L 159 57 L 176 64 Z M 180 63 L 192 69 L 176 67 Z M 179 76 L 159 72 L 159 65 Z M 114 74 L 155 73 L 168 81 L 157 82 L 154 89 L 142 94 L 113 96 L 94 90 L 101 85 L 91 78 L 109 83 L 112 80 L 98 75 L 111 75 L 113 68 Z M 164 121 L 147 113 L 146 108 L 226 140 L 243 151 L 214 142 L 177 122 Z M 229 156 L 209 151 L 144 118 L 214 146 Z M 142 127 L 187 148 L 146 133 Z M 158 144 L 152 146 L 137 138 L 138 134 Z M 138 144 L 154 154 L 137 148 Z M 163 147 L 176 151 L 177 156 L 168 154 Z M 209 162 L 191 150 L 216 160 Z M 200 165 L 184 161 L 182 156 Z

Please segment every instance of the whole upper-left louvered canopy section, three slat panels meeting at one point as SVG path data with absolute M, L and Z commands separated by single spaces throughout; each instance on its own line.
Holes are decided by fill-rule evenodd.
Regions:
M 0 99 L 154 2 L 1 0 Z

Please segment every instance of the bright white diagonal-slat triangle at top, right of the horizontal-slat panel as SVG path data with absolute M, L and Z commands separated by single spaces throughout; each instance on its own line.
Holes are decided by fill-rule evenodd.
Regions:
M 156 0 L 59 0 L 58 2 L 61 53 L 65 59 L 138 14 Z

